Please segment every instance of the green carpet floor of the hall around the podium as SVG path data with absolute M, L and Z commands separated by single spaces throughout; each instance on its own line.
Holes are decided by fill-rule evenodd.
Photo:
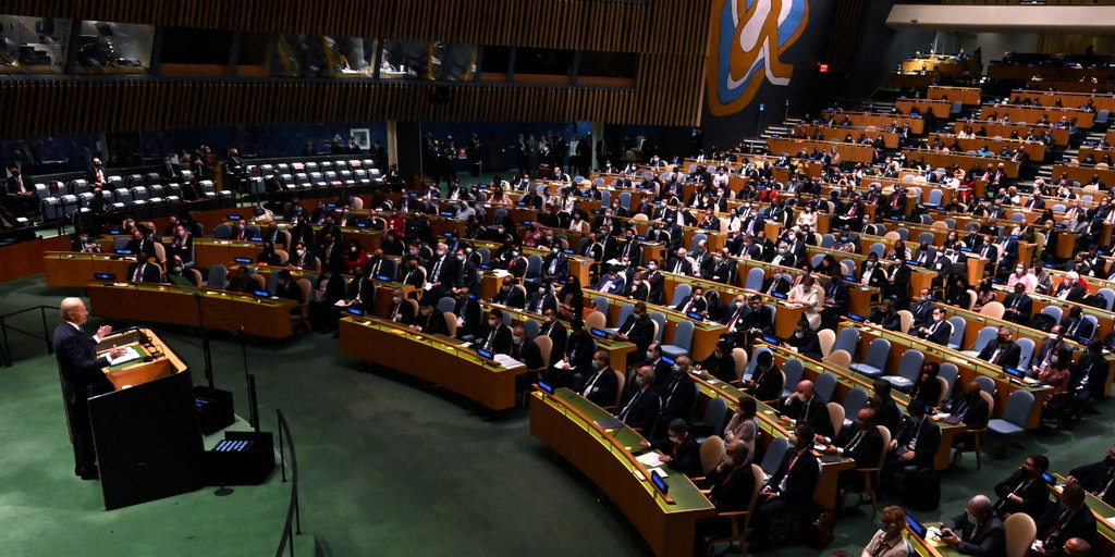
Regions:
M 0 314 L 40 304 L 56 307 L 76 293 L 47 289 L 41 275 L 0 284 Z M 52 329 L 57 312 L 47 317 Z M 10 324 L 42 328 L 33 312 Z M 200 382 L 200 340 L 185 329 L 159 333 Z M 9 341 L 16 365 L 0 369 L 3 555 L 274 554 L 289 500 L 289 483 L 280 481 L 278 470 L 264 485 L 239 486 L 229 497 L 204 488 L 103 510 L 98 483 L 72 476 L 54 358 L 41 341 L 14 332 Z M 595 486 L 531 437 L 525 410 L 483 421 L 467 400 L 390 370 L 362 368 L 338 353 L 336 339 L 321 333 L 300 331 L 281 342 L 252 340 L 246 352 L 263 429 L 277 431 L 274 410 L 282 409 L 294 436 L 303 531 L 295 555 L 649 554 Z M 216 385 L 234 392 L 236 413 L 246 417 L 239 342 L 219 335 L 213 354 Z M 1108 407 L 1101 404 L 1102 413 L 1088 416 L 1075 431 L 1032 432 L 1025 449 L 1012 448 L 1006 456 L 992 442 L 982 470 L 966 456 L 960 470 L 943 476 L 941 510 L 919 516 L 928 521 L 961 511 L 971 495 L 990 492 L 1029 452 L 1047 455 L 1063 473 L 1103 458 L 1113 440 Z M 837 522 L 836 541 L 821 555 L 834 549 L 859 555 L 874 530 L 870 515 L 870 506 L 850 510 Z M 793 546 L 762 555 L 817 554 Z

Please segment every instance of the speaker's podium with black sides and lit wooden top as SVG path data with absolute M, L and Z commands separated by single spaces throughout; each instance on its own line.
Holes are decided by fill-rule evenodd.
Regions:
M 101 339 L 97 352 L 127 345 L 140 358 L 105 369 L 113 392 L 89 399 L 105 509 L 204 486 L 204 446 L 190 369 L 147 329 Z

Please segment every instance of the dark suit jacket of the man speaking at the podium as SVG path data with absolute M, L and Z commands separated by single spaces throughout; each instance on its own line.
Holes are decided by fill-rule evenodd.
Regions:
M 97 358 L 93 336 L 69 323 L 60 323 L 55 328 L 54 349 L 67 402 L 84 403 L 90 395 L 113 390 L 113 384 L 100 371 L 108 365 L 108 358 Z

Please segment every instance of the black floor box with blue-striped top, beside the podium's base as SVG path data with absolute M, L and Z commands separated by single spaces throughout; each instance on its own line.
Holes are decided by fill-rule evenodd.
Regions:
M 202 457 L 207 486 L 256 486 L 274 467 L 274 440 L 268 431 L 225 431 L 224 441 Z

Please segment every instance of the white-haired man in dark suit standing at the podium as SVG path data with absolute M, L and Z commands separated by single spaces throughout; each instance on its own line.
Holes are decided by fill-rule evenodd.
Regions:
M 113 332 L 113 328 L 104 325 L 97 329 L 97 334 L 89 336 L 83 329 L 89 319 L 85 302 L 77 297 L 62 300 L 61 316 L 64 323 L 55 328 L 54 349 L 58 358 L 58 371 L 61 373 L 62 397 L 66 399 L 66 411 L 69 414 L 71 441 L 74 443 L 74 473 L 84 480 L 95 480 L 100 477 L 97 470 L 97 453 L 93 446 L 93 426 L 89 423 L 88 400 L 90 397 L 110 392 L 113 384 L 108 382 L 101 368 L 108 367 L 108 358 L 97 358 L 96 345 L 101 338 Z M 114 348 L 113 358 L 124 354 L 124 348 Z

